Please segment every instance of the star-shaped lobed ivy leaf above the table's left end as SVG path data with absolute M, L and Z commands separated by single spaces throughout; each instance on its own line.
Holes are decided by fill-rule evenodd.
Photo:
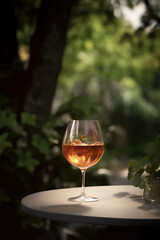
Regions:
M 39 161 L 32 156 L 32 152 L 28 150 L 27 152 L 19 152 L 19 159 L 17 161 L 18 167 L 26 168 L 30 173 L 33 173 L 36 166 L 39 165 Z

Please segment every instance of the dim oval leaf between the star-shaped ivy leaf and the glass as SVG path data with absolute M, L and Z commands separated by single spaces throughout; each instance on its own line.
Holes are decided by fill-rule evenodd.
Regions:
M 32 146 L 37 148 L 42 154 L 48 154 L 50 150 L 49 141 L 38 134 L 32 136 Z

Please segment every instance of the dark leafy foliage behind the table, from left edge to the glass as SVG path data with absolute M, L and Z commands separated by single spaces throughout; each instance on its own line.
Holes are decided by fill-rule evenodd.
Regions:
M 44 221 L 23 214 L 20 200 L 37 191 L 80 186 L 80 171 L 67 163 L 61 153 L 67 124 L 65 116 L 70 109 L 70 117 L 81 115 L 86 119 L 96 107 L 87 98 L 85 102 L 75 98 L 61 106 L 42 128 L 38 128 L 35 115 L 21 113 L 18 121 L 6 98 L 0 104 L 0 211 L 7 219 L 12 212 L 14 224 L 22 236 L 36 230 L 40 234 L 45 228 Z M 97 167 L 88 172 L 88 185 L 107 184 L 106 176 L 96 170 Z M 8 227 L 9 224 L 13 222 L 7 221 Z

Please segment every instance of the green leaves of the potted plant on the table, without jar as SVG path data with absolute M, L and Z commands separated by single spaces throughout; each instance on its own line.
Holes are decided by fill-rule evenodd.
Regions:
M 144 176 L 148 183 L 160 177 L 160 135 L 148 143 L 145 156 L 139 160 L 131 160 L 128 164 L 128 179 L 135 187 L 144 188 Z

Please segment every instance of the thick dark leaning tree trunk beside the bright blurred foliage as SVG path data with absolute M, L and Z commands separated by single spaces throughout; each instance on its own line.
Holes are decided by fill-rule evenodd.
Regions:
M 73 0 L 42 0 L 36 32 L 31 41 L 30 82 L 24 104 L 24 111 L 37 115 L 39 125 L 50 114 L 72 4 Z

